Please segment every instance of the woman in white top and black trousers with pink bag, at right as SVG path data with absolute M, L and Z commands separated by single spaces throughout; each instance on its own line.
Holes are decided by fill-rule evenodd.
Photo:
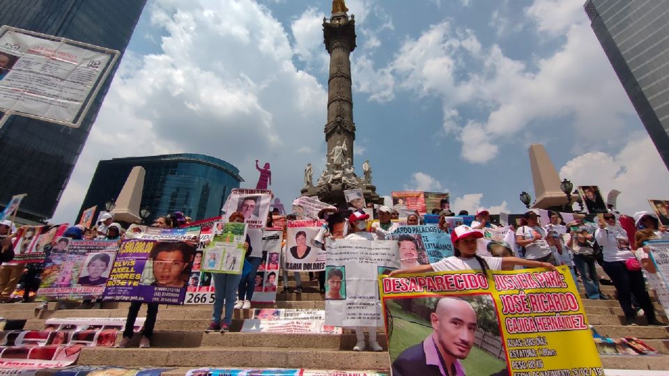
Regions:
M 631 263 L 631 260 L 636 261 L 636 257 L 631 252 L 625 231 L 617 225 L 613 214 L 603 214 L 603 219 L 599 220 L 599 228 L 595 230 L 594 237 L 602 247 L 604 260 L 601 266 L 613 281 L 618 302 L 625 313 L 625 324 L 636 325 L 636 311 L 632 308 L 632 294 L 643 308 L 648 324 L 659 324 L 655 318 L 655 309 L 646 291 L 641 268 L 639 265 L 635 266 Z

